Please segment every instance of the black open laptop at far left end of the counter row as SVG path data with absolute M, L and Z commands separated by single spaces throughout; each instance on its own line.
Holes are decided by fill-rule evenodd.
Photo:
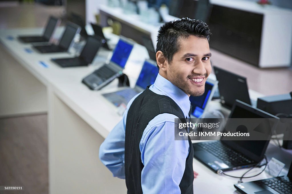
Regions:
M 60 24 L 60 19 L 51 16 L 48 20 L 46 25 L 46 29 L 42 36 L 34 35 L 34 36 L 19 36 L 18 40 L 25 43 L 32 43 L 32 42 L 50 42 L 51 38 L 53 37 L 53 33 L 55 29 Z

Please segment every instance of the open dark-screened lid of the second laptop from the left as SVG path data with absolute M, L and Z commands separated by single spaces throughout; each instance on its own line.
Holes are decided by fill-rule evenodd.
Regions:
M 72 22 L 67 22 L 66 29 L 60 39 L 59 46 L 68 50 L 73 43 L 75 35 L 80 32 L 80 29 L 80 26 L 73 24 Z

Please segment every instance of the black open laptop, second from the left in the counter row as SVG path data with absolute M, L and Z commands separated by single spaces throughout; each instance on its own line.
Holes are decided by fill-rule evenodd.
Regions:
M 66 29 L 58 45 L 34 45 L 33 47 L 41 53 L 67 52 L 73 43 L 74 36 L 80 32 L 80 27 L 73 23 L 67 23 Z

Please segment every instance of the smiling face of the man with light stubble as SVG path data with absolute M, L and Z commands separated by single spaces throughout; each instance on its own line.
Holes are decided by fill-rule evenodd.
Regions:
M 179 41 L 180 49 L 166 68 L 167 79 L 187 95 L 201 96 L 212 70 L 208 40 L 190 35 Z

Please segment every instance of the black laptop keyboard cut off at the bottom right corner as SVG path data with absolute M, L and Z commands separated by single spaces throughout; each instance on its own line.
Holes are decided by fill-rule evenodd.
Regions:
M 265 179 L 260 181 L 255 181 L 256 184 L 265 184 L 266 186 L 274 189 L 281 194 L 292 193 L 292 182 L 284 177 L 275 177 L 272 179 Z

